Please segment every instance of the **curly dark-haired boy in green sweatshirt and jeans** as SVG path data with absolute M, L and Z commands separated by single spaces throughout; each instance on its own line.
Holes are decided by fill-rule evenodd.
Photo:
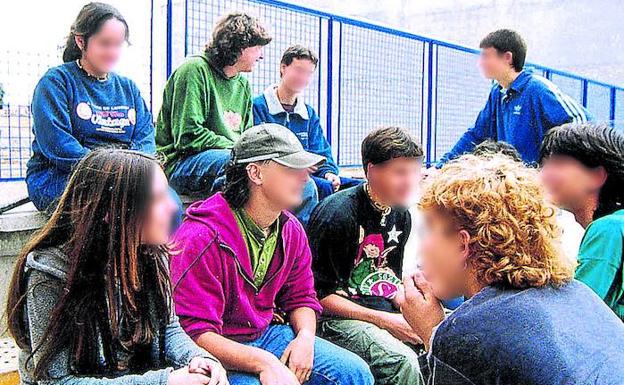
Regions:
M 251 86 L 241 73 L 253 70 L 271 41 L 243 13 L 221 19 L 212 37 L 167 80 L 156 122 L 156 148 L 180 194 L 208 196 L 234 142 L 252 126 Z

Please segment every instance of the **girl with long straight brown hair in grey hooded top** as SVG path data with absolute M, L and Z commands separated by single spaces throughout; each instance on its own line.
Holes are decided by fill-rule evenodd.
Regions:
M 227 384 L 173 312 L 168 188 L 140 152 L 96 150 L 77 164 L 9 288 L 23 384 Z

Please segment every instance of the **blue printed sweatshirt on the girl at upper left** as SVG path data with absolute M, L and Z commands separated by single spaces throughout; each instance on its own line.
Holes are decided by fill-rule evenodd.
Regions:
M 26 182 L 31 200 L 45 209 L 89 150 L 114 146 L 154 153 L 152 115 L 136 84 L 109 74 L 98 81 L 69 62 L 48 70 L 32 101 L 32 157 Z

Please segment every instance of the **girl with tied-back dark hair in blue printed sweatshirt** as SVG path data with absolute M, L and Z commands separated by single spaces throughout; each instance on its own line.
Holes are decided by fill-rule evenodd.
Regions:
M 32 100 L 32 157 L 28 195 L 39 210 L 53 210 L 72 167 L 97 147 L 154 153 L 152 115 L 136 84 L 111 72 L 128 41 L 115 8 L 85 5 L 71 26 L 64 64 L 51 68 Z M 51 207 L 52 205 L 52 207 Z

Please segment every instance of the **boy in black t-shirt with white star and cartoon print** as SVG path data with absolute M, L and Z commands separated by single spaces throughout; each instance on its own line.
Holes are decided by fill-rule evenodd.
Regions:
M 422 150 L 402 129 L 362 143 L 368 182 L 340 191 L 312 213 L 308 234 L 322 336 L 370 365 L 377 384 L 422 384 L 421 340 L 400 313 L 400 277 L 411 230 L 406 206 L 420 179 Z

